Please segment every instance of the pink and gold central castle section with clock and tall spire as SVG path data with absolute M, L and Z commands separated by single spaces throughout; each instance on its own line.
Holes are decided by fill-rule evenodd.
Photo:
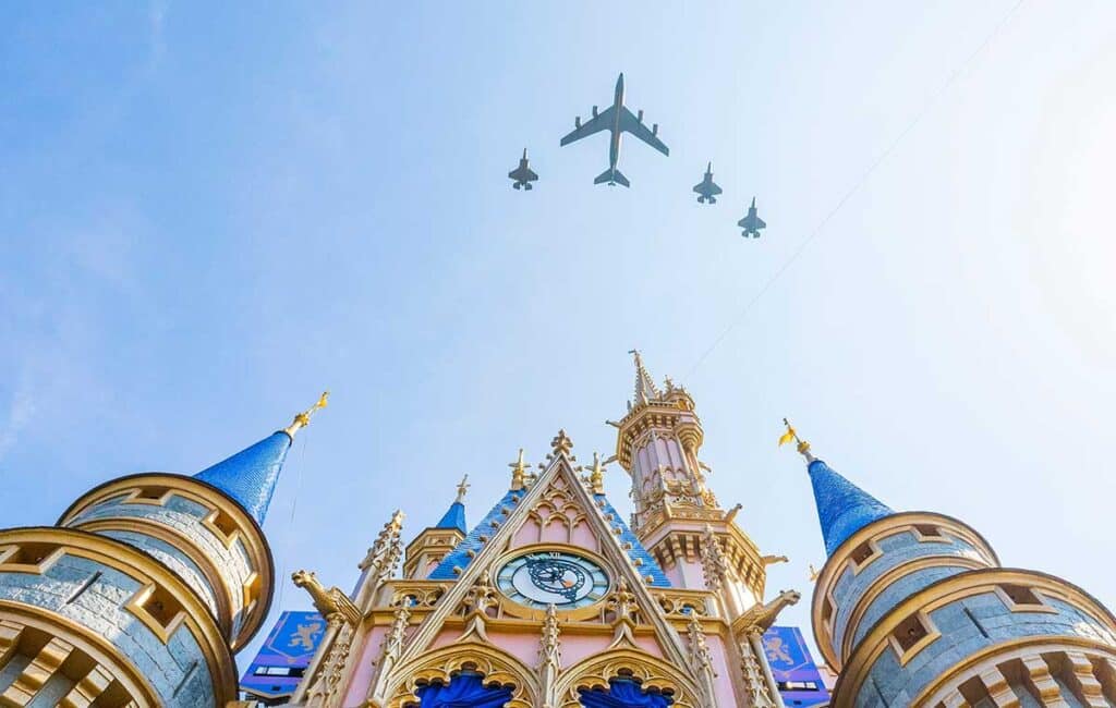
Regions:
M 780 707 L 761 637 L 798 593 L 757 601 L 764 561 L 705 487 L 693 400 L 658 390 L 638 359 L 636 375 L 615 424 L 636 531 L 605 494 L 600 456 L 579 464 L 562 430 L 537 465 L 520 450 L 468 533 L 460 485 L 402 578 L 397 512 L 353 593 L 295 573 L 329 628 L 292 705 Z

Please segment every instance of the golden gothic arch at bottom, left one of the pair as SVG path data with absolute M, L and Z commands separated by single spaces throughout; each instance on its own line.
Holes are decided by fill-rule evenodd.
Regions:
M 449 683 L 462 672 L 484 677 L 485 685 L 512 686 L 511 700 L 506 708 L 535 708 L 539 695 L 533 672 L 519 659 L 492 644 L 466 641 L 443 647 L 422 654 L 414 661 L 393 670 L 401 680 L 388 691 L 392 697 L 387 708 L 406 708 L 419 705 L 419 688 L 430 683 Z

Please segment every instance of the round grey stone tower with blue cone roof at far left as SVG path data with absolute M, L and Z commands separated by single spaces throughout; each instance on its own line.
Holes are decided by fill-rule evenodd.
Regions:
M 260 525 L 312 410 L 192 477 L 122 477 L 52 527 L 0 531 L 0 705 L 234 700 L 273 588 Z

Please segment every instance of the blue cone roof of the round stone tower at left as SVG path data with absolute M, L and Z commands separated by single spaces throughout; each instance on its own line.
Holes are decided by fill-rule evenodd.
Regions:
M 208 482 L 228 494 L 262 524 L 290 443 L 290 436 L 280 430 L 199 472 L 194 478 Z

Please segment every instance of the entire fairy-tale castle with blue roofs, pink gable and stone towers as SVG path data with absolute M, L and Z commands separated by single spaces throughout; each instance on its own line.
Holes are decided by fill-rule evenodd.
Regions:
M 764 555 L 709 487 L 693 397 L 670 379 L 658 386 L 638 355 L 635 369 L 634 398 L 610 421 L 614 459 L 632 481 L 629 520 L 604 493 L 612 459 L 578 465 L 564 431 L 538 467 L 520 454 L 472 527 L 464 482 L 406 546 L 396 512 L 353 592 L 294 574 L 320 621 L 291 641 L 312 658 L 286 676 L 283 700 L 1116 706 L 1106 608 L 1061 579 L 1002 568 L 959 520 L 893 511 L 793 430 L 828 555 L 812 629 L 837 679 L 831 695 L 790 680 L 788 636 L 772 625 L 800 597 L 766 586 L 767 566 L 786 559 Z M 260 524 L 311 413 L 193 476 L 113 479 L 54 526 L 0 531 L 0 706 L 252 705 L 238 702 L 233 652 L 268 614 L 276 580 Z

